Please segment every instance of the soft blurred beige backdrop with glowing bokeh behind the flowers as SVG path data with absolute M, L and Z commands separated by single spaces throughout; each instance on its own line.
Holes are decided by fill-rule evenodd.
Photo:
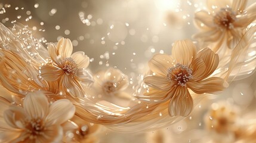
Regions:
M 203 0 L 2 0 L 0 22 L 8 27 L 14 21 L 28 25 L 45 44 L 69 38 L 74 51 L 84 51 L 90 57 L 92 73 L 117 67 L 132 78 L 146 71 L 153 54 L 171 54 L 174 41 L 191 39 L 198 32 L 193 14 L 204 8 Z M 219 97 L 195 107 L 202 108 L 200 114 L 193 112 L 160 133 L 104 131 L 99 138 L 101 142 L 192 142 L 182 132 L 203 129 L 203 115 L 214 101 L 235 102 L 243 111 L 254 114 L 255 87 L 255 74 L 233 82 Z

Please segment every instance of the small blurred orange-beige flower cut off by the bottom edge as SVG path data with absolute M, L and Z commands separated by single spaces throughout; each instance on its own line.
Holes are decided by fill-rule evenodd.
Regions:
M 100 125 L 89 123 L 78 116 L 74 116 L 71 120 L 78 125 L 78 129 L 66 132 L 67 137 L 64 142 L 96 143 L 99 141 L 96 135 Z

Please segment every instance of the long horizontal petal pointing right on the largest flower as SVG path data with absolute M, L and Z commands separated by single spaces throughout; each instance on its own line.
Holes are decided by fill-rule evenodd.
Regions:
M 202 81 L 190 80 L 187 82 L 187 86 L 196 94 L 215 94 L 227 88 L 229 83 L 220 77 L 210 77 Z

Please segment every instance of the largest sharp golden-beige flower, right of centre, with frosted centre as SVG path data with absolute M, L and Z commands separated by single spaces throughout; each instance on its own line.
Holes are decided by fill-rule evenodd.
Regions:
M 156 54 L 149 61 L 153 75 L 144 77 L 150 88 L 142 100 L 169 102 L 170 116 L 188 116 L 193 108 L 193 98 L 188 88 L 196 94 L 222 91 L 228 83 L 220 77 L 208 77 L 218 66 L 218 55 L 205 48 L 196 54 L 190 40 L 177 41 L 172 55 Z

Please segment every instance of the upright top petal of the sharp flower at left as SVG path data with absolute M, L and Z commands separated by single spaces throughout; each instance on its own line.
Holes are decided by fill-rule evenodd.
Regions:
M 73 51 L 73 45 L 70 39 L 61 38 L 57 43 L 57 50 L 61 61 L 65 58 L 69 58 Z

